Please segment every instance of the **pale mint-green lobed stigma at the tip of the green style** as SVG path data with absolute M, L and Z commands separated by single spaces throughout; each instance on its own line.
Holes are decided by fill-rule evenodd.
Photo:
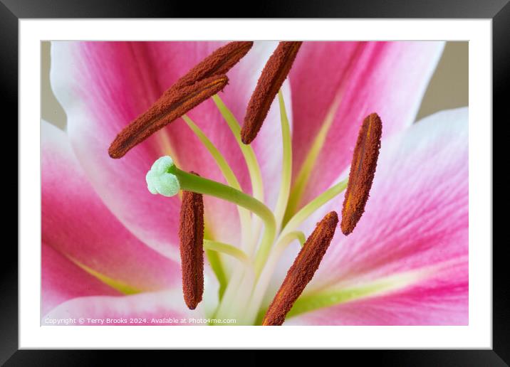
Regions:
M 147 188 L 153 194 L 162 196 L 175 196 L 180 189 L 179 179 L 170 170 L 175 167 L 170 156 L 162 156 L 152 164 L 145 176 Z

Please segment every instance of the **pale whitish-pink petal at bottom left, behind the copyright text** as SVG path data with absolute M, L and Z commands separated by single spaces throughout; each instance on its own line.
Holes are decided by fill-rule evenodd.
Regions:
M 194 311 L 186 308 L 179 292 L 153 292 L 123 297 L 80 297 L 71 299 L 51 310 L 46 319 L 78 319 L 83 324 L 100 326 L 93 320 L 104 319 L 103 325 L 190 325 L 189 318 L 204 319 L 201 306 Z M 152 319 L 160 320 L 152 321 Z M 177 319 L 177 321 L 170 321 Z M 179 322 L 181 319 L 185 323 Z M 78 323 L 76 324 L 78 325 Z M 202 324 L 203 325 L 203 324 Z

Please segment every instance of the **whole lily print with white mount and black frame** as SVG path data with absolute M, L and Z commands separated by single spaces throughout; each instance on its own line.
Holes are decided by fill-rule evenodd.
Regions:
M 38 5 L 1 15 L 5 102 L 19 90 L 8 365 L 74 353 L 26 349 L 508 361 L 491 121 L 509 5 Z

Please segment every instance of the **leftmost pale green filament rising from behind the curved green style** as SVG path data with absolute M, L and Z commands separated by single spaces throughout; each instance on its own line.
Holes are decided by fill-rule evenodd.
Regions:
M 204 144 L 209 153 L 212 155 L 214 161 L 216 161 L 218 168 L 220 169 L 220 171 L 222 171 L 222 174 L 225 180 L 227 181 L 227 184 L 241 191 L 241 185 L 239 185 L 239 181 L 237 180 L 234 171 L 232 171 L 232 169 L 230 168 L 229 164 L 227 163 L 227 159 L 224 158 L 223 154 L 219 152 L 217 147 L 214 147 L 214 144 L 212 144 L 212 142 L 209 140 L 209 138 L 207 138 L 204 132 L 202 132 L 202 130 L 196 124 L 194 124 L 192 119 L 190 119 L 186 115 L 182 116 L 182 118 L 187 123 L 189 128 L 192 129 L 194 134 L 197 135 L 200 142 Z M 239 220 L 241 222 L 241 243 L 248 243 L 248 241 L 251 239 L 250 212 L 247 211 L 245 208 L 242 208 L 241 206 L 237 206 L 237 211 L 239 212 Z

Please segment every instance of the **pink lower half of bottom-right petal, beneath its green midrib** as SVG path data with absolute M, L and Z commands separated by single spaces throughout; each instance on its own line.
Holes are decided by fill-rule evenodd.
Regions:
M 289 318 L 285 325 L 467 325 L 467 260 L 410 287 Z

